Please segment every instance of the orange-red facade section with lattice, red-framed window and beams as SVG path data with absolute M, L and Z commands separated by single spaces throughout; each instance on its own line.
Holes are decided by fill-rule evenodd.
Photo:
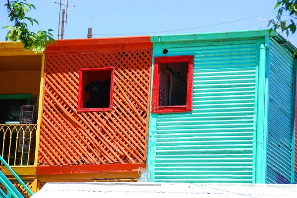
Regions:
M 58 40 L 45 51 L 38 175 L 139 177 L 147 157 L 151 48 L 149 37 L 136 37 Z

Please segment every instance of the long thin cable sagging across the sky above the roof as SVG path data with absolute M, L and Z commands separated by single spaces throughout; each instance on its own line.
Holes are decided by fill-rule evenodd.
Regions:
M 269 13 L 261 14 L 261 15 L 257 15 L 257 16 L 252 16 L 252 17 L 248 17 L 248 18 L 244 18 L 244 19 L 239 19 L 239 20 L 234 20 L 234 21 L 228 21 L 228 22 L 224 22 L 224 23 L 217 23 L 217 24 L 212 24 L 212 25 L 207 25 L 207 26 L 199 26 L 199 27 L 195 27 L 195 28 L 186 28 L 186 29 L 178 29 L 178 30 L 159 31 L 159 32 L 118 33 L 118 34 L 93 34 L 93 35 L 140 35 L 140 34 L 155 34 L 155 33 L 176 32 L 176 31 L 182 31 L 182 30 L 194 30 L 194 29 L 198 29 L 198 28 L 207 28 L 207 27 L 211 27 L 211 26 L 217 26 L 217 25 L 222 25 L 222 24 L 227 24 L 227 23 L 233 23 L 233 22 L 238 22 L 238 21 L 244 21 L 244 20 L 247 20 L 247 19 L 252 19 L 252 18 L 255 18 L 255 17 L 259 17 L 259 16 L 264 16 L 264 15 L 272 14 L 272 13 L 275 13 L 275 12 L 277 12 L 277 11 L 269 12 Z

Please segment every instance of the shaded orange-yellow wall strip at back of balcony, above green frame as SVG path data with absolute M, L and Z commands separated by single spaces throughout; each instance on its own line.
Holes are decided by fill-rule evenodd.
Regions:
M 0 94 L 39 95 L 41 71 L 0 71 Z

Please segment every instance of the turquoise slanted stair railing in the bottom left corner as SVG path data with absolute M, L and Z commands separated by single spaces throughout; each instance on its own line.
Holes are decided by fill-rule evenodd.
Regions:
M 24 189 L 29 193 L 30 196 L 33 192 L 27 187 L 23 180 L 14 172 L 14 170 L 8 165 L 8 163 L 0 156 L 0 161 L 6 166 L 6 168 L 11 172 L 11 174 L 17 179 L 17 181 L 24 187 Z M 0 183 L 7 190 L 7 195 L 0 189 L 0 197 L 3 198 L 24 198 L 24 196 L 13 186 L 9 179 L 0 171 Z

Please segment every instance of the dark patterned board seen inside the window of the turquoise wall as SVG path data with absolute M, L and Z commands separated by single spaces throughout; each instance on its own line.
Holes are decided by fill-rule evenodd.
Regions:
M 187 84 L 173 73 L 170 74 L 169 105 L 186 105 Z

